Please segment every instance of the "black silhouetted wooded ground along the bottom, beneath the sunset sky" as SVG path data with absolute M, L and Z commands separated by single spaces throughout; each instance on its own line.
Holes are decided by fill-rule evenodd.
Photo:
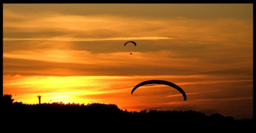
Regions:
M 19 129 L 19 132 L 253 132 L 256 127 L 253 119 L 235 120 L 218 113 L 205 115 L 191 110 L 127 112 L 115 104 L 13 103 L 1 108 L 3 129 Z

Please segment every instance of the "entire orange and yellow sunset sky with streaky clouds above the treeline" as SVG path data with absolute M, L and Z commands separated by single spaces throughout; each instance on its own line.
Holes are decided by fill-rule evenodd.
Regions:
M 3 4 L 3 94 L 252 119 L 253 4 Z

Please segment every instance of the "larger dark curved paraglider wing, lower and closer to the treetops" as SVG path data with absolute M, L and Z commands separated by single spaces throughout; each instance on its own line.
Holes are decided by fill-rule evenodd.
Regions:
M 183 89 L 181 89 L 178 85 L 173 84 L 172 82 L 169 81 L 165 81 L 165 80 L 147 80 L 147 81 L 143 81 L 140 82 L 138 85 L 134 86 L 132 89 L 132 93 L 134 92 L 135 89 L 139 88 L 140 86 L 143 85 L 148 85 L 148 84 L 161 84 L 161 85 L 167 85 L 167 86 L 171 86 L 177 90 L 179 90 L 179 92 L 183 95 L 184 97 L 184 101 L 186 101 L 187 96 L 186 93 L 184 92 Z

